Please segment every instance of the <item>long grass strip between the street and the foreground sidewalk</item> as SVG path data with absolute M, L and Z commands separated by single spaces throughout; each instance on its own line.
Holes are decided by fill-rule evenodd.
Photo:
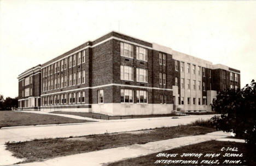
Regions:
M 85 137 L 33 140 L 22 143 L 7 143 L 6 145 L 7 149 L 14 153 L 14 156 L 27 158 L 25 162 L 33 162 L 113 147 L 146 144 L 149 141 L 206 134 L 213 131 L 216 130 L 201 126 L 176 126 Z

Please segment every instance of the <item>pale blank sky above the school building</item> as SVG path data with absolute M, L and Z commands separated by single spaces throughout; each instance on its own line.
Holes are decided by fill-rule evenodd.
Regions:
M 256 79 L 255 1 L 0 1 L 0 94 L 18 75 L 110 31 L 168 46 Z

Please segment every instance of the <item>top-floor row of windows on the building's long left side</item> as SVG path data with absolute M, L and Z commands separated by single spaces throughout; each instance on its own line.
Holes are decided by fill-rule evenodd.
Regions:
M 85 50 L 77 52 L 74 55 L 69 56 L 68 58 L 64 58 L 63 60 L 60 60 L 54 64 L 51 64 L 48 67 L 43 68 L 43 77 L 65 70 L 67 69 L 67 66 L 71 68 L 74 67 L 76 64 L 79 65 L 84 62 Z

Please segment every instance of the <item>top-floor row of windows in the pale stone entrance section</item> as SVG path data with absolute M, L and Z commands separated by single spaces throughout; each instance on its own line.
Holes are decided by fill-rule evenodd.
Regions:
M 187 63 L 187 73 L 190 73 L 190 67 L 191 67 L 191 64 Z M 175 70 L 176 71 L 179 70 L 178 61 L 175 61 Z M 181 72 L 184 72 L 184 70 L 185 70 L 185 62 L 181 62 Z M 197 66 L 197 74 L 201 75 L 201 73 L 202 73 L 202 76 L 206 76 L 206 68 Z M 192 65 L 192 74 L 196 74 L 195 64 Z M 211 78 L 211 75 L 212 75 L 212 70 L 210 69 L 210 78 Z

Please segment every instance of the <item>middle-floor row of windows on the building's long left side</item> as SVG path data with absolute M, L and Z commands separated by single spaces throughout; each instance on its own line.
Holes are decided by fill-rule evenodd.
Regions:
M 63 88 L 67 86 L 80 85 L 85 83 L 85 70 L 82 72 L 69 74 L 69 81 L 67 82 L 67 76 L 61 76 L 61 78 L 56 78 L 52 80 L 43 81 L 43 92 L 54 90 L 57 88 Z

